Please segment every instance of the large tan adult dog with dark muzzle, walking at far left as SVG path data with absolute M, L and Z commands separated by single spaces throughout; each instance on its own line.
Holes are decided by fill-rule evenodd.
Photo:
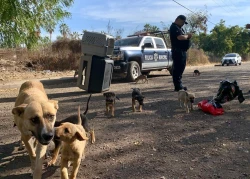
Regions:
M 41 82 L 27 81 L 21 85 L 12 113 L 14 123 L 21 132 L 21 140 L 30 156 L 34 179 L 42 177 L 47 145 L 54 136 L 57 109 L 58 101 L 48 99 Z M 32 136 L 38 141 L 36 152 L 29 143 Z

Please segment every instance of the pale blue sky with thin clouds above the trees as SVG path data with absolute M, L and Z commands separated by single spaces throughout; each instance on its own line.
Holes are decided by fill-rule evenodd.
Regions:
M 205 11 L 209 16 L 208 28 L 211 30 L 214 24 L 225 20 L 226 26 L 239 25 L 244 27 L 250 23 L 249 0 L 176 0 L 192 11 Z M 122 36 L 133 34 L 143 29 L 144 24 L 149 23 L 162 28 L 164 24 L 171 24 L 179 14 L 190 12 L 172 0 L 75 0 L 73 6 L 68 9 L 72 13 L 71 18 L 64 22 L 71 32 L 107 31 L 110 21 L 114 29 L 124 29 Z M 43 35 L 48 35 L 43 32 Z M 58 27 L 52 34 L 52 39 L 60 35 Z

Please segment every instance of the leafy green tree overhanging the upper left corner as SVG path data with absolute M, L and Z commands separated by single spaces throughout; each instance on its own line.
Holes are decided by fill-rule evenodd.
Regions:
M 0 46 L 16 47 L 25 44 L 31 48 L 39 40 L 37 29 L 54 26 L 70 13 L 74 0 L 1 0 Z

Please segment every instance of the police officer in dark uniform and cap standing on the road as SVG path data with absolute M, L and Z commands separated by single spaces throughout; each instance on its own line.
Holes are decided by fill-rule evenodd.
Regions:
M 179 15 L 170 26 L 170 40 L 173 58 L 173 83 L 175 91 L 187 90 L 182 86 L 182 74 L 186 67 L 187 50 L 190 47 L 191 33 L 186 34 L 182 26 L 188 24 L 184 15 Z

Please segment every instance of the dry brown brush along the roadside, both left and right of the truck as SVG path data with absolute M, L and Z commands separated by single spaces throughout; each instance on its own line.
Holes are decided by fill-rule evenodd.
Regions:
M 30 51 L 26 48 L 0 49 L 0 58 L 22 62 L 22 64 L 29 62 L 34 70 L 76 70 L 80 57 L 80 40 L 61 39 Z M 242 56 L 242 59 L 247 61 L 249 55 Z M 188 50 L 187 65 L 189 66 L 219 63 L 220 60 L 220 57 L 205 54 L 203 50 Z

